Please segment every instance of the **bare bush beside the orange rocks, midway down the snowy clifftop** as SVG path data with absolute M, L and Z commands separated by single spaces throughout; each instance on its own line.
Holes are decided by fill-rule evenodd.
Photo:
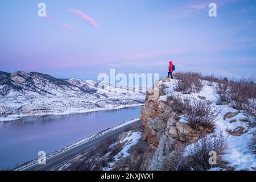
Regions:
M 213 109 L 209 102 L 205 100 L 192 100 L 188 104 L 188 108 L 185 111 L 184 119 L 188 122 L 188 125 L 193 129 L 198 129 L 198 126 L 213 129 L 214 121 L 221 110 Z

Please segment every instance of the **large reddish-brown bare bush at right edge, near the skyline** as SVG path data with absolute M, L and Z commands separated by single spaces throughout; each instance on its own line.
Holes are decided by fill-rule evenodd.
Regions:
M 245 110 L 250 98 L 256 98 L 255 78 L 242 78 L 230 82 L 231 105 L 234 109 Z

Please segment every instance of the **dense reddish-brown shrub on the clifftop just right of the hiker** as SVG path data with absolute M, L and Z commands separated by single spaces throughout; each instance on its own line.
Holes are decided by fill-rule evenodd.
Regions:
M 200 73 L 177 73 L 175 76 L 179 79 L 175 87 L 175 91 L 177 92 L 183 92 L 186 94 L 191 92 L 200 92 L 204 87 Z

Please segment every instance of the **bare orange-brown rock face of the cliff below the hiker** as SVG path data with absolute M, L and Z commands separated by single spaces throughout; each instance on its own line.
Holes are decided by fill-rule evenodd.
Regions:
M 158 98 L 148 100 L 148 96 L 154 94 L 154 88 L 147 91 L 146 103 L 139 115 L 145 129 L 143 139 L 150 144 L 144 155 L 142 170 L 166 170 L 168 161 L 176 152 L 183 151 L 185 146 L 211 132 L 204 127 L 196 131 L 187 123 L 180 122 L 180 113 L 172 107 L 172 101 L 160 99 L 160 96 L 170 93 L 168 89 L 170 84 L 174 84 L 173 81 L 164 78 L 159 82 Z

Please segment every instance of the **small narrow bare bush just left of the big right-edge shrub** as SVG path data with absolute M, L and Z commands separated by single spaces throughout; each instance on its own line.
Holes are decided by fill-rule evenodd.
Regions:
M 227 80 L 218 81 L 215 91 L 218 94 L 218 102 L 230 102 L 229 82 Z

